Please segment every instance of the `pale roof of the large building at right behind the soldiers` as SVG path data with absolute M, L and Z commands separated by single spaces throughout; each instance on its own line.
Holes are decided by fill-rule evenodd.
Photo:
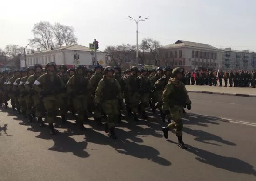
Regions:
M 169 44 L 164 46 L 163 48 L 178 48 L 182 46 L 191 46 L 191 47 L 197 47 L 197 48 L 206 48 L 206 49 L 214 49 L 214 50 L 219 50 L 218 48 L 215 48 L 211 45 L 208 44 L 203 44 L 203 43 L 196 43 L 196 42 L 191 42 L 191 41 L 183 41 L 183 40 L 178 40 L 174 44 Z

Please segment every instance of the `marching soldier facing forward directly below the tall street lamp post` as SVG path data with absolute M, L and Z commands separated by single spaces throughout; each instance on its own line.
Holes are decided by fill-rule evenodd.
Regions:
M 139 106 L 139 90 L 140 90 L 140 80 L 137 78 L 137 73 L 139 72 L 138 67 L 132 66 L 131 68 L 131 75 L 128 75 L 126 78 L 126 85 L 127 85 L 127 96 L 129 97 L 126 104 L 128 115 L 130 112 L 134 115 L 134 121 L 139 121 L 138 119 L 138 106 Z

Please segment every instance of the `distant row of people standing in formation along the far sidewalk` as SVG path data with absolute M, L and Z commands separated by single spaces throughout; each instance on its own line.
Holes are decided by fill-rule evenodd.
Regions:
M 256 71 L 187 71 L 186 84 L 222 87 L 256 87 Z

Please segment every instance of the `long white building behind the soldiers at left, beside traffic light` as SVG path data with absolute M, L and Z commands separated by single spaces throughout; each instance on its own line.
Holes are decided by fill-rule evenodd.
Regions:
M 35 64 L 45 66 L 48 62 L 55 62 L 56 65 L 65 64 L 68 68 L 72 68 L 76 65 L 76 60 L 74 59 L 76 53 L 79 55 L 78 64 L 86 65 L 88 68 L 93 68 L 97 63 L 105 66 L 104 52 L 97 51 L 97 62 L 95 62 L 95 55 L 91 50 L 88 47 L 77 44 L 53 47 L 43 51 L 32 51 L 26 56 L 27 66 L 34 66 Z M 24 60 L 21 61 L 21 67 L 25 67 Z

